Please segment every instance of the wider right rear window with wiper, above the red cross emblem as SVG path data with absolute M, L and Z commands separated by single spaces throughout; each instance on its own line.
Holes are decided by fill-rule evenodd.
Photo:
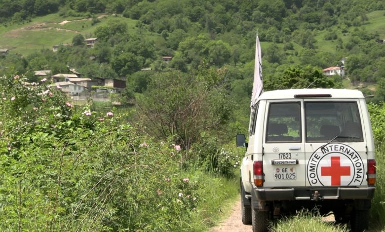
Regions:
M 305 124 L 307 142 L 363 142 L 357 102 L 305 102 Z

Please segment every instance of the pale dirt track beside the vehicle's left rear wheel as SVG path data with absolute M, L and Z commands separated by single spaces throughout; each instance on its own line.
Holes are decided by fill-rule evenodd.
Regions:
M 214 227 L 211 232 L 251 232 L 252 226 L 246 226 L 242 223 L 240 204 L 240 200 L 238 200 L 233 205 L 230 216 L 220 225 Z

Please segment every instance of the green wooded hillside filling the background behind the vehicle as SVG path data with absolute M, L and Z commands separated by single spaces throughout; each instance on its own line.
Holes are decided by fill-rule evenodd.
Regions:
M 10 50 L 1 56 L 1 74 L 33 79 L 27 71 L 55 74 L 70 67 L 87 77 L 127 78 L 132 97 L 152 75 L 143 68 L 188 73 L 206 62 L 225 68 L 233 97 L 247 102 L 258 31 L 265 90 L 307 87 L 346 57 L 344 79 L 322 80 L 334 87 L 368 86 L 362 90 L 374 94 L 372 100 L 385 98 L 382 0 L 5 0 L 0 9 L 0 47 Z M 74 19 L 79 21 L 58 24 Z M 98 38 L 94 49 L 82 42 L 90 37 Z M 65 43 L 73 46 L 51 51 Z M 165 55 L 173 57 L 168 64 Z M 313 87 L 324 86 L 316 82 L 322 81 Z

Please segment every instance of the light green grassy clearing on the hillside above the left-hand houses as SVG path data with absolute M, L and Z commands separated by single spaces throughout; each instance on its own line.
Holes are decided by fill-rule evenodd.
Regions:
M 34 18 L 29 23 L 1 25 L 0 48 L 25 56 L 42 48 L 52 48 L 53 45 L 71 44 L 73 37 L 78 33 L 85 38 L 92 37 L 97 27 L 105 25 L 111 19 L 127 23 L 129 33 L 139 33 L 135 27 L 136 20 L 108 15 L 96 17 L 100 22 L 94 25 L 92 25 L 92 18 L 62 18 L 58 13 Z

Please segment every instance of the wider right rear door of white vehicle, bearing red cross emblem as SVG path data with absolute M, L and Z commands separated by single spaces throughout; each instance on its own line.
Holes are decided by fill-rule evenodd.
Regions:
M 358 100 L 304 100 L 307 186 L 366 184 L 366 142 Z

